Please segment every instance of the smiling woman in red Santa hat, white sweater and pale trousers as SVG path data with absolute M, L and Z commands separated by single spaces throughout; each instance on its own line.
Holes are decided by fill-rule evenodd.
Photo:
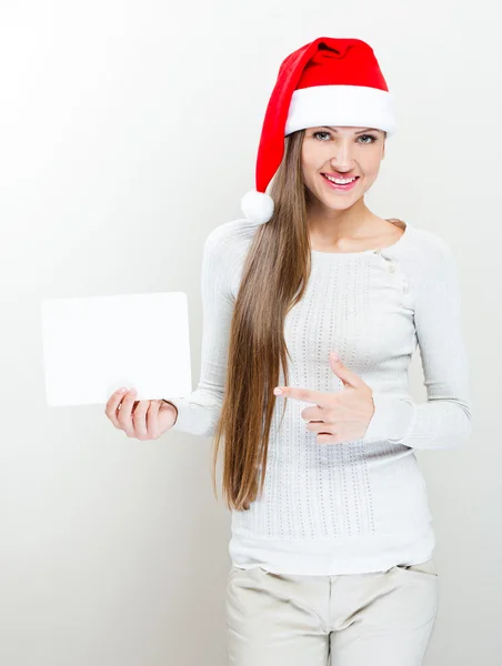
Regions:
M 302 47 L 279 71 L 245 219 L 204 245 L 200 383 L 162 413 L 215 435 L 214 470 L 224 438 L 234 666 L 418 666 L 430 640 L 415 450 L 469 437 L 468 363 L 449 246 L 364 203 L 393 132 L 365 42 Z M 408 391 L 418 346 L 425 403 Z

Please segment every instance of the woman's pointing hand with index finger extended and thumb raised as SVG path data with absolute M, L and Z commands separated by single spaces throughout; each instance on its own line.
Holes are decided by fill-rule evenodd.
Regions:
M 330 354 L 330 366 L 344 384 L 338 393 L 292 386 L 278 389 L 282 391 L 282 397 L 314 403 L 315 406 L 305 407 L 301 416 L 308 421 L 307 430 L 318 433 L 320 444 L 362 440 L 374 413 L 373 391 L 334 354 Z

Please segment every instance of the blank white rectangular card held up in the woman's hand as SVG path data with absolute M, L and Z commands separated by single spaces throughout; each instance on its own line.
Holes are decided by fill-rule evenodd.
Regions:
M 184 292 L 50 299 L 41 316 L 49 405 L 106 404 L 121 386 L 135 400 L 191 393 Z

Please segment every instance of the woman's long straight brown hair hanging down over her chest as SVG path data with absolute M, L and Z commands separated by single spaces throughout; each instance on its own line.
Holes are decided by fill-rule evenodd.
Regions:
M 304 133 L 300 130 L 284 138 L 284 155 L 270 189 L 273 216 L 252 239 L 230 326 L 212 472 L 217 493 L 218 453 L 224 438 L 223 498 L 237 511 L 248 511 L 263 490 L 280 366 L 284 385 L 289 381 L 284 320 L 302 299 L 311 271 L 307 225 L 311 193 L 301 165 Z

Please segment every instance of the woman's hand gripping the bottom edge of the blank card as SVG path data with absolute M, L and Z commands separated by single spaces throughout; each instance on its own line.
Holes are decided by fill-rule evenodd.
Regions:
M 163 400 L 134 401 L 135 391 L 116 391 L 107 403 L 104 413 L 113 425 L 128 437 L 158 440 L 171 430 L 178 417 L 174 405 Z

